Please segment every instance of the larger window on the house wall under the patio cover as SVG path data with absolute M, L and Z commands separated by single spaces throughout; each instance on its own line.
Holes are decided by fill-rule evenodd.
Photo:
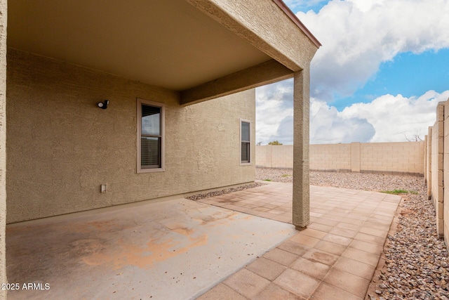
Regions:
M 163 171 L 164 105 L 138 99 L 138 173 Z

